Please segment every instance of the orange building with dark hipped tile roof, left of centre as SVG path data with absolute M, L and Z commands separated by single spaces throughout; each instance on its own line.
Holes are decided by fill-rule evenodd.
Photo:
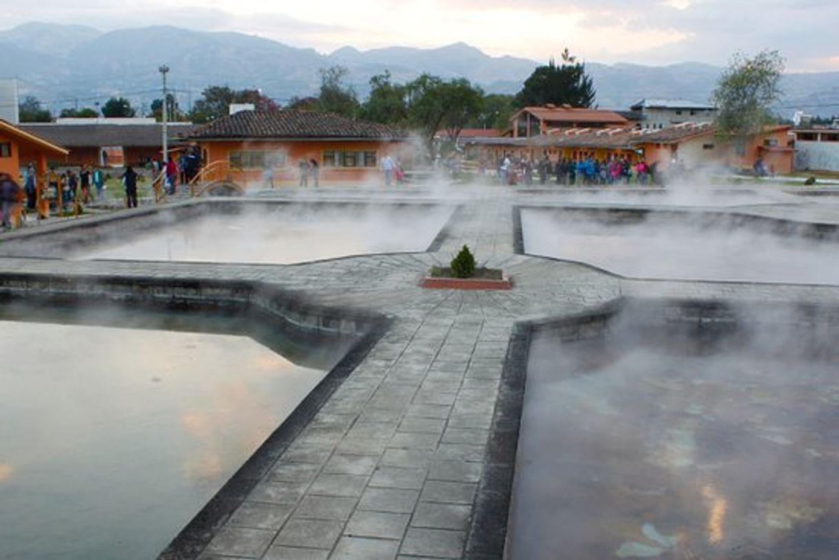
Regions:
M 311 160 L 321 183 L 379 181 L 386 155 L 402 165 L 413 157 L 407 135 L 386 125 L 299 110 L 241 111 L 197 128 L 188 139 L 201 149 L 206 170 L 221 170 L 225 180 L 244 188 L 263 186 L 268 176 L 274 186 L 296 185 L 301 163 Z

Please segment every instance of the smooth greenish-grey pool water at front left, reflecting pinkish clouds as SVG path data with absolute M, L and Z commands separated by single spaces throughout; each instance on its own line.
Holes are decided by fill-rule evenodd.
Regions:
M 0 353 L 3 558 L 155 557 L 325 374 L 195 332 L 0 321 Z

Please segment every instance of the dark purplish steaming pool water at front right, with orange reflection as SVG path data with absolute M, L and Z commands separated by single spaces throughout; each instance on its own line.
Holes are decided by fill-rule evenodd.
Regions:
M 835 559 L 836 366 L 779 354 L 535 338 L 511 558 Z

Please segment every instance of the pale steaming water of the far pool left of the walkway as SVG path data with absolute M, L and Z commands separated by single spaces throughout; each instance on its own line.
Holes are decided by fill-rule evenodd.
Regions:
M 198 217 L 74 256 L 290 264 L 353 254 L 424 251 L 452 212 L 444 207 L 362 208 Z

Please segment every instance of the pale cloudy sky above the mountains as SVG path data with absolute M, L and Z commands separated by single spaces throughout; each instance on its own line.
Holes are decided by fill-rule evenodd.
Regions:
M 0 0 L 3 28 L 35 20 L 238 31 L 321 52 L 463 41 L 547 60 L 568 46 L 592 62 L 653 65 L 724 65 L 769 48 L 789 71 L 839 71 L 836 0 Z

